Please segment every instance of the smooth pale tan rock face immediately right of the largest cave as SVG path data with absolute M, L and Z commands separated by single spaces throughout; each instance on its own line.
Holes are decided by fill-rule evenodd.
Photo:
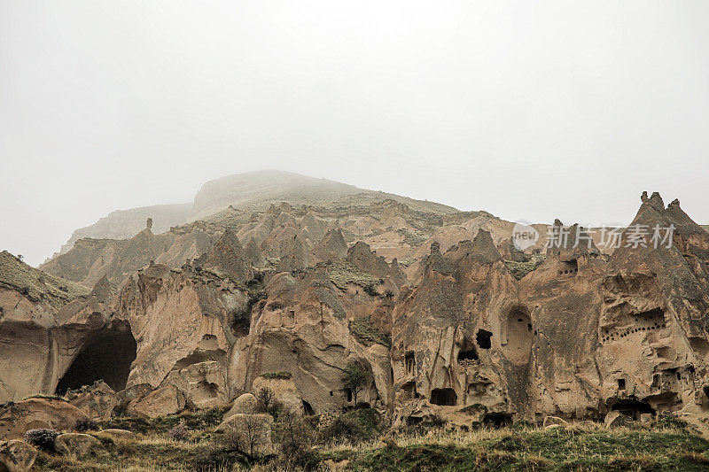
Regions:
M 235 316 L 246 303 L 234 282 L 199 266 L 171 271 L 155 264 L 138 271 L 117 295 L 117 311 L 137 341 L 129 386 L 158 387 L 173 370 L 223 362 L 236 336 Z

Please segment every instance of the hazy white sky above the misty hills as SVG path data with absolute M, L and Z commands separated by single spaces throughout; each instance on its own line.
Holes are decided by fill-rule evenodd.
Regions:
M 709 222 L 709 2 L 0 3 L 0 249 L 277 168 L 485 209 Z

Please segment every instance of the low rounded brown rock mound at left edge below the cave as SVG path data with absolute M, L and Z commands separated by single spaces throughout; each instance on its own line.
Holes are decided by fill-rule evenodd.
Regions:
M 29 429 L 71 429 L 86 414 L 65 400 L 27 398 L 0 406 L 0 440 L 21 439 Z

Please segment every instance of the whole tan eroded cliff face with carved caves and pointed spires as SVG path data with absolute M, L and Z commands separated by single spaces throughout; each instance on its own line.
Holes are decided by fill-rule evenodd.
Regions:
M 4 286 L 0 399 L 103 379 L 114 408 L 149 416 L 268 388 L 300 414 L 356 398 L 394 425 L 673 412 L 709 431 L 709 233 L 676 201 L 641 203 L 610 256 L 578 225 L 557 221 L 562 244 L 521 252 L 487 214 L 443 221 L 389 200 L 271 205 L 245 220 L 227 209 L 173 236 L 146 228 L 112 243 L 144 251 L 104 266 L 85 253 L 102 278 L 74 300 Z M 673 239 L 656 247 L 656 226 Z M 73 251 L 61 257 L 82 260 Z M 510 270 L 533 253 L 526 273 Z M 352 363 L 357 391 L 343 388 Z

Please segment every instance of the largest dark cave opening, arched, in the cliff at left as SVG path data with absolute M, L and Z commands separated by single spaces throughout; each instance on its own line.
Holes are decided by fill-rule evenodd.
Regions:
M 130 364 L 136 360 L 136 339 L 127 321 L 115 320 L 110 329 L 97 333 L 74 358 L 59 379 L 55 394 L 76 390 L 103 380 L 114 391 L 126 388 Z

